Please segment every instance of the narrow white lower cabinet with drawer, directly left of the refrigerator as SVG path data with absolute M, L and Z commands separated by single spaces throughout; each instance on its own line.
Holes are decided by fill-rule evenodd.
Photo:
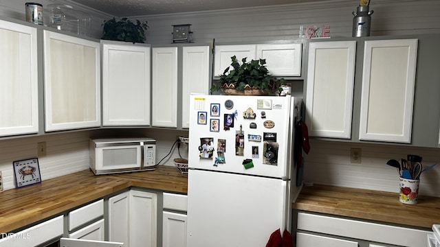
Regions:
M 186 195 L 164 193 L 162 247 L 186 247 L 187 198 Z

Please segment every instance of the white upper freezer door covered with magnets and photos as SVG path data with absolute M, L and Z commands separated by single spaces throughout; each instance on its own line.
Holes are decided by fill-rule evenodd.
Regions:
M 291 99 L 191 95 L 188 166 L 289 179 Z

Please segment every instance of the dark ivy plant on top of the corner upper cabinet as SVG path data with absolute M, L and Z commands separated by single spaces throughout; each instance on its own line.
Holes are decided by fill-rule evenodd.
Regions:
M 116 21 L 113 17 L 102 24 L 102 39 L 144 43 L 145 32 L 148 29 L 146 24 L 146 21 L 133 22 L 125 17 Z

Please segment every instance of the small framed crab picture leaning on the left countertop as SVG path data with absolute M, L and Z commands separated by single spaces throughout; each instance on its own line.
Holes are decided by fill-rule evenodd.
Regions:
M 17 188 L 41 183 L 39 158 L 12 162 Z

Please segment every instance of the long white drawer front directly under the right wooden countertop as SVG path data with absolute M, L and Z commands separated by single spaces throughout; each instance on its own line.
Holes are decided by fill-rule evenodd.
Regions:
M 429 233 L 412 228 L 303 212 L 298 213 L 298 229 L 408 247 L 427 246 L 426 235 Z

